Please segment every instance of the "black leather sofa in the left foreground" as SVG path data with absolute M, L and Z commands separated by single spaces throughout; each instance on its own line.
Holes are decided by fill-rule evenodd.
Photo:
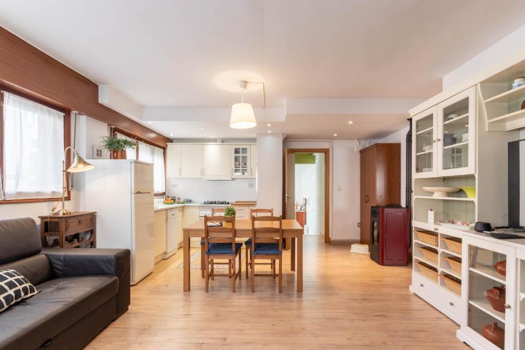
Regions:
M 130 305 L 129 249 L 42 249 L 31 218 L 0 220 L 0 270 L 39 291 L 0 312 L 0 349 L 79 349 Z

